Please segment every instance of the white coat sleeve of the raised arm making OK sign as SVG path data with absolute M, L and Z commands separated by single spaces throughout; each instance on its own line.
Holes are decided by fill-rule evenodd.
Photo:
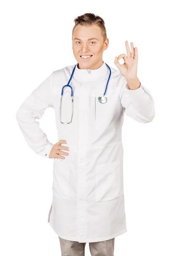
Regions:
M 150 91 L 142 84 L 138 89 L 130 90 L 123 76 L 120 102 L 126 115 L 138 122 L 151 122 L 155 116 L 154 101 Z

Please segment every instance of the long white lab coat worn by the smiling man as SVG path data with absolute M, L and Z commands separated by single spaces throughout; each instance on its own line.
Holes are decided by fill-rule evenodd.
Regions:
M 105 62 L 96 70 L 78 69 L 70 82 L 74 114 L 68 125 L 59 120 L 62 87 L 74 65 L 56 70 L 23 102 L 17 122 L 35 153 L 49 157 L 53 143 L 40 129 L 46 108 L 54 108 L 58 140 L 66 140 L 65 159 L 54 158 L 53 198 L 48 222 L 62 239 L 97 242 L 127 231 L 123 190 L 122 124 L 124 113 L 142 123 L 155 116 L 153 97 L 141 83 L 130 90 L 125 78 L 111 67 L 111 78 L 101 104 L 109 70 Z M 71 119 L 70 88 L 62 99 L 62 122 Z M 50 158 L 49 158 L 50 159 Z M 52 159 L 51 159 L 52 160 Z

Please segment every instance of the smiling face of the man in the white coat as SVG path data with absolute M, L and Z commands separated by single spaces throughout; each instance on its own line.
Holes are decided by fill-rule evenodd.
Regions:
M 97 25 L 77 25 L 73 32 L 72 49 L 79 69 L 97 69 L 103 64 L 102 55 L 108 48 L 108 38 L 103 42 L 101 29 Z M 91 57 L 83 58 L 81 56 Z

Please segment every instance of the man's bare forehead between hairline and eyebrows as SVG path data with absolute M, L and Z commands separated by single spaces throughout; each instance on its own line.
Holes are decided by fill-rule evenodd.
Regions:
M 91 26 L 77 25 L 73 32 L 73 40 L 74 38 L 79 38 L 83 40 L 88 38 L 100 39 L 101 37 L 102 37 L 101 29 L 97 25 L 91 25 Z

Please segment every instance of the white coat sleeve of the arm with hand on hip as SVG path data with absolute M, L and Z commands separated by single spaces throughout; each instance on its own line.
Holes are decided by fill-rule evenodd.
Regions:
M 52 74 L 25 99 L 16 113 L 18 125 L 28 146 L 36 154 L 47 158 L 54 144 L 48 141 L 36 119 L 42 117 L 46 108 L 54 108 L 51 100 Z

